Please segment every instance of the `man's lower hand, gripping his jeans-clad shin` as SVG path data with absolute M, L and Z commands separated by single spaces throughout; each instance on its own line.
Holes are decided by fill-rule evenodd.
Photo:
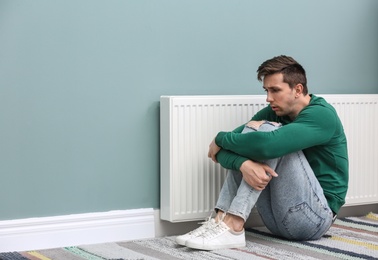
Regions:
M 268 165 L 251 160 L 245 161 L 240 171 L 243 174 L 243 179 L 252 186 L 255 190 L 263 190 L 273 177 L 278 177 L 278 174 Z

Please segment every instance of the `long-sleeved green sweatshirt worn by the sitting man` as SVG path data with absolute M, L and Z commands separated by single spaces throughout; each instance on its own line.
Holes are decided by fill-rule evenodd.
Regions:
M 302 150 L 329 207 L 337 213 L 348 190 L 347 140 L 335 109 L 323 98 L 310 96 L 310 104 L 294 121 L 277 116 L 270 106 L 252 117 L 282 123 L 275 131 L 241 134 L 242 125 L 232 132 L 218 133 L 215 143 L 222 149 L 217 160 L 224 168 L 239 170 L 248 159 L 263 161 Z

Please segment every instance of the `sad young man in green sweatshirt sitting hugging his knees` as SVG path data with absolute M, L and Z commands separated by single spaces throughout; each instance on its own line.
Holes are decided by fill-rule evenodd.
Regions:
M 273 234 L 319 239 L 345 203 L 347 140 L 334 108 L 308 94 L 305 70 L 291 57 L 267 60 L 257 72 L 269 105 L 210 144 L 208 156 L 229 169 L 217 214 L 178 236 L 180 245 L 245 246 L 244 223 L 253 206 Z

